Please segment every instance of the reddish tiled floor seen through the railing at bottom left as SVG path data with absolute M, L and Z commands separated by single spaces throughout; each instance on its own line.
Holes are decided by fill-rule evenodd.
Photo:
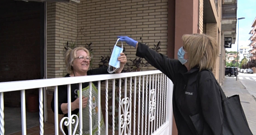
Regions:
M 30 129 L 27 129 L 27 134 L 28 135 L 40 134 L 40 126 L 32 127 Z M 44 123 L 44 134 L 45 135 L 55 134 L 54 124 Z M 10 134 L 10 135 L 22 135 L 22 131 L 15 132 L 15 133 Z

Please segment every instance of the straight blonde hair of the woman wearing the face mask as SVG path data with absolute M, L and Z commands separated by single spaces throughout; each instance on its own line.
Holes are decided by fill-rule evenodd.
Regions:
M 193 34 L 182 36 L 184 49 L 189 55 L 189 68 L 213 70 L 219 55 L 219 46 L 211 36 Z

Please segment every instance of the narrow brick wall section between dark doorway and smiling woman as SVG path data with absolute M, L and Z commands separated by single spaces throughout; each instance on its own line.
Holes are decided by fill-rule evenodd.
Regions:
M 64 46 L 76 43 L 77 4 L 47 3 L 47 77 L 63 77 L 66 72 Z

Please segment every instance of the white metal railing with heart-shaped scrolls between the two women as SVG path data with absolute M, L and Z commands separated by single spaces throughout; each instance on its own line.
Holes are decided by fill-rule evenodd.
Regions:
M 127 89 L 127 79 L 129 81 L 129 89 Z M 118 80 L 118 88 L 116 89 L 115 81 Z M 21 93 L 21 113 L 22 113 L 22 134 L 26 134 L 26 99 L 25 90 L 39 88 L 39 115 L 40 115 L 40 134 L 44 134 L 44 112 L 43 112 L 43 88 L 54 87 L 54 120 L 55 134 L 59 134 L 59 130 L 63 132 L 63 125 L 68 126 L 68 134 L 72 132 L 72 126 L 79 123 L 79 134 L 83 132 L 83 109 L 79 109 L 79 116 L 71 113 L 71 84 L 79 84 L 79 91 L 82 90 L 82 83 L 89 82 L 89 111 L 90 111 L 90 135 L 92 135 L 92 82 L 98 82 L 98 108 L 97 127 L 100 134 L 100 107 L 101 90 L 106 90 L 106 134 L 171 134 L 172 133 L 172 81 L 159 70 L 145 72 L 129 72 L 123 74 L 106 74 L 106 75 L 90 75 L 83 77 L 63 77 L 56 79 L 38 79 L 29 81 L 14 81 L 0 83 L 0 134 L 4 134 L 4 92 L 17 91 Z M 104 84 L 100 81 L 105 81 Z M 122 84 L 124 81 L 124 84 Z M 58 86 L 67 84 L 68 88 L 68 117 L 62 118 L 58 123 Z M 102 84 L 102 86 L 100 86 Z M 109 98 L 109 86 L 112 86 L 112 101 Z M 133 86 L 133 89 L 132 89 Z M 110 88 L 111 89 L 111 88 Z M 129 91 L 129 92 L 127 92 Z M 128 95 L 129 93 L 129 95 Z M 117 95 L 115 95 L 117 94 Z M 132 97 L 133 94 L 133 97 Z M 82 92 L 79 92 L 82 97 Z M 118 97 L 118 103 L 116 103 Z M 138 99 L 137 99 L 138 97 Z M 142 97 L 142 99 L 141 99 Z M 138 102 L 137 102 L 138 100 Z M 82 102 L 80 98 L 79 102 Z M 112 102 L 112 113 L 109 113 L 109 102 Z M 132 104 L 133 102 L 133 104 Z M 115 104 L 118 107 L 115 107 Z M 138 104 L 138 106 L 137 106 Z M 132 110 L 133 107 L 133 110 Z M 82 108 L 82 104 L 79 104 Z M 118 109 L 118 122 L 115 122 L 115 109 Z M 109 115 L 112 115 L 112 123 L 109 126 Z M 132 118 L 133 116 L 133 118 Z M 76 119 L 74 119 L 76 118 Z M 60 124 L 60 126 L 59 126 Z M 115 131 L 115 126 L 118 131 Z M 74 129 L 76 130 L 76 128 Z M 109 133 L 109 130 L 112 132 Z M 63 132 L 64 133 L 64 132 Z M 103 133 L 102 133 L 103 134 Z

